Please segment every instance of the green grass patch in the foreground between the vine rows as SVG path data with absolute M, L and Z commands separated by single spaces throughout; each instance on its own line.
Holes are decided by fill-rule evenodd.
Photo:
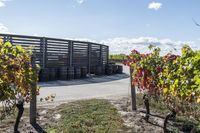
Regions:
M 122 128 L 123 121 L 107 100 L 85 100 L 61 105 L 61 118 L 47 128 L 49 133 L 112 133 Z

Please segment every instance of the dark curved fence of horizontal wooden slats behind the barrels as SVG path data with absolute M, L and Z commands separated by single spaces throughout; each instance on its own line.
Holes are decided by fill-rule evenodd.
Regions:
M 108 63 L 109 47 L 75 40 L 0 34 L 4 42 L 23 47 L 33 46 L 36 63 L 41 68 L 87 67 L 93 73 L 96 66 Z

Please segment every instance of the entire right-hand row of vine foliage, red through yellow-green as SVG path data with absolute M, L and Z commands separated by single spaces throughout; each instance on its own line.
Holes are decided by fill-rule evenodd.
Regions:
M 174 116 L 200 116 L 200 51 L 189 46 L 181 55 L 160 55 L 160 48 L 149 46 L 151 53 L 141 54 L 132 50 L 124 64 L 133 70 L 132 85 L 142 93 L 159 99 Z M 145 98 L 146 99 L 146 98 Z

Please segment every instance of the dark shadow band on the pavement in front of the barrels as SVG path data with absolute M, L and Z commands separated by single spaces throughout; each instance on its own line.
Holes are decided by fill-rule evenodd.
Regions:
M 54 86 L 71 86 L 71 85 L 82 85 L 82 84 L 94 84 L 94 83 L 104 83 L 111 82 L 116 80 L 122 80 L 129 78 L 129 75 L 126 73 L 123 74 L 115 74 L 110 76 L 92 76 L 90 78 L 85 79 L 75 79 L 75 80 L 67 80 L 67 81 L 50 81 L 50 82 L 40 82 L 40 87 L 54 87 Z

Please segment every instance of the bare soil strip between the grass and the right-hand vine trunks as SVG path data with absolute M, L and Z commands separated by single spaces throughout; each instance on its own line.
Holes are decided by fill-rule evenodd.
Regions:
M 131 111 L 130 97 L 124 97 L 110 102 L 117 108 L 124 120 L 124 125 L 129 128 L 127 132 L 136 133 L 163 133 L 163 119 L 151 116 L 149 122 L 144 119 L 145 114 L 138 111 Z

